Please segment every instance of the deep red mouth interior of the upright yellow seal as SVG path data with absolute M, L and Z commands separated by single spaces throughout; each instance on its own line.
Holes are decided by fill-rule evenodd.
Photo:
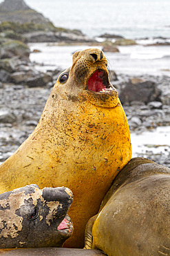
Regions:
M 105 91 L 107 90 L 107 87 L 103 83 L 105 80 L 105 75 L 104 72 L 101 70 L 96 70 L 91 77 L 89 77 L 89 80 L 87 82 L 87 89 L 89 91 L 101 91 L 104 89 Z

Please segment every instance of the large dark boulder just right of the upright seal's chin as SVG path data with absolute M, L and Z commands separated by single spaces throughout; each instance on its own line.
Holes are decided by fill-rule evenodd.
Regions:
M 158 89 L 155 82 L 145 81 L 138 84 L 132 84 L 129 81 L 125 88 L 120 91 L 119 98 L 123 104 L 126 102 L 139 101 L 145 104 L 151 101 L 160 101 L 161 91 Z

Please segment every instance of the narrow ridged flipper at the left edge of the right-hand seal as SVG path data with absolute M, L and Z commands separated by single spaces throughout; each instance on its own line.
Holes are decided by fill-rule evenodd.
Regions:
M 93 237 L 92 237 L 92 228 L 94 226 L 94 221 L 96 221 L 96 218 L 98 217 L 98 214 L 94 215 L 94 217 L 90 218 L 87 222 L 86 228 L 85 228 L 85 247 L 84 249 L 92 249 L 93 246 Z

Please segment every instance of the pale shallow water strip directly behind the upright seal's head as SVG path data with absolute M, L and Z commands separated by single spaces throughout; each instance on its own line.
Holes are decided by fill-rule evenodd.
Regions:
M 31 51 L 38 49 L 40 53 L 31 53 L 30 60 L 41 71 L 65 68 L 72 65 L 72 54 L 75 51 L 92 46 L 58 46 L 57 44 L 29 44 Z M 93 46 L 95 48 L 95 46 Z M 102 46 L 96 46 L 102 49 Z M 109 69 L 119 75 L 167 75 L 170 80 L 170 46 L 118 46 L 119 53 L 105 53 Z

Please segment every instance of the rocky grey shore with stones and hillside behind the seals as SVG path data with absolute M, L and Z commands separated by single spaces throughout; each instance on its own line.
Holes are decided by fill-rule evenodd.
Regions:
M 83 35 L 80 30 L 56 28 L 23 1 L 18 0 L 18 3 L 17 7 L 12 7 L 10 0 L 0 4 L 0 162 L 5 161 L 32 133 L 52 86 L 63 71 L 59 64 L 41 71 L 44 64 L 38 62 L 39 57 L 31 61 L 33 54 L 39 54 L 36 43 L 53 42 L 63 47 L 74 45 L 77 49 L 98 46 L 111 54 L 118 54 L 120 46 L 126 48 L 138 44 L 137 40 L 118 35 L 98 35 L 100 40 L 97 40 Z M 25 15 L 19 15 L 21 12 Z M 169 46 L 169 39 L 163 43 L 154 42 L 156 47 L 162 44 Z M 118 90 L 127 114 L 132 145 L 134 139 L 142 136 L 140 134 L 146 131 L 154 133 L 158 127 L 170 126 L 168 69 L 163 75 L 131 75 L 110 69 L 110 80 Z M 145 143 L 143 152 L 135 152 L 135 156 L 148 157 L 170 167 L 170 142 L 166 138 L 165 142 L 160 145 L 155 137 L 152 143 Z M 160 151 L 155 152 L 154 149 L 158 148 Z

